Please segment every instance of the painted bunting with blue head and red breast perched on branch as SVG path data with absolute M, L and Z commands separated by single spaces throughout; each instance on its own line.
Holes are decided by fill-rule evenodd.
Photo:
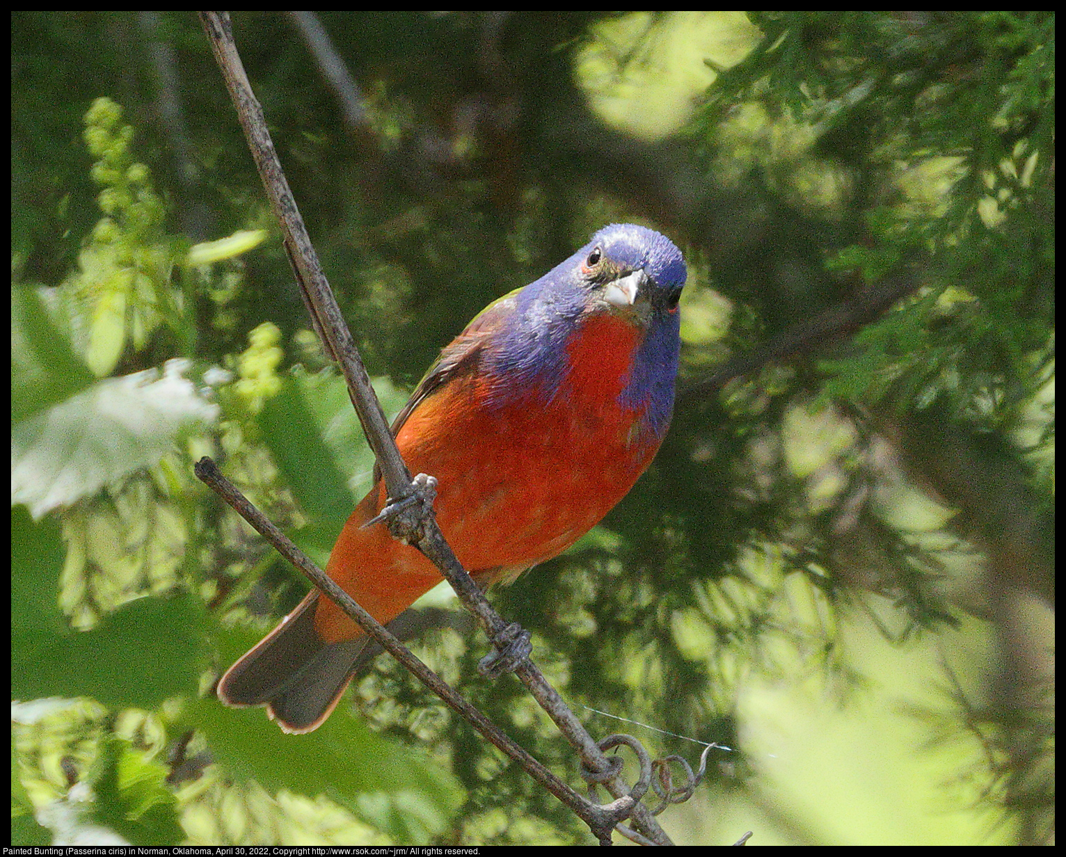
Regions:
M 475 316 L 393 420 L 410 472 L 436 478 L 437 523 L 482 587 L 558 556 L 651 463 L 674 408 L 687 275 L 665 236 L 605 226 Z M 385 524 L 367 527 L 389 501 L 375 478 L 326 573 L 385 625 L 442 578 Z M 310 732 L 371 642 L 312 589 L 223 675 L 217 696 L 233 708 L 266 706 L 285 732 Z

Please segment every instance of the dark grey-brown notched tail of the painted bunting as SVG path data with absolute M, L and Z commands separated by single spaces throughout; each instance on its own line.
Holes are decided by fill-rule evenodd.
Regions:
M 266 705 L 285 732 L 310 732 L 336 708 L 367 637 L 325 643 L 314 630 L 312 591 L 219 681 L 219 698 L 237 708 Z

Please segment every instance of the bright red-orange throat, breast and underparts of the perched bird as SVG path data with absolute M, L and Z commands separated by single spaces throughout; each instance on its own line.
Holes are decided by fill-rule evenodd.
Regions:
M 547 403 L 537 389 L 489 404 L 489 378 L 452 378 L 407 418 L 397 444 L 413 473 L 437 478 L 437 521 L 463 566 L 496 582 L 558 555 L 594 527 L 632 487 L 658 450 L 639 443 L 639 411 L 619 395 L 639 332 L 623 319 L 594 316 L 567 344 L 568 372 Z M 497 391 L 496 401 L 500 401 Z M 360 525 L 384 504 L 381 483 L 356 507 L 326 567 L 381 622 L 440 581 L 415 548 L 388 528 Z M 318 607 L 327 642 L 357 636 L 332 602 Z

